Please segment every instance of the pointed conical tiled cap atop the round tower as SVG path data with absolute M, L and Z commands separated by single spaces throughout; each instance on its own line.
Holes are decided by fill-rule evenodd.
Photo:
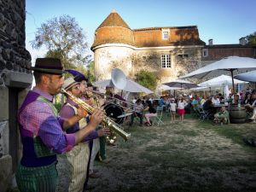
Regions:
M 98 26 L 97 29 L 105 27 L 105 26 L 122 26 L 128 29 L 131 29 L 130 26 L 128 26 L 125 21 L 120 17 L 120 15 L 113 10 L 108 17 L 102 22 L 100 26 Z M 96 30 L 97 30 L 96 29 Z

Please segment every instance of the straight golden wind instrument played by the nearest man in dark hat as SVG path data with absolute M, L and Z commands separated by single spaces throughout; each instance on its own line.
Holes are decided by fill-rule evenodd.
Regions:
M 76 96 L 73 96 L 72 94 L 68 93 L 63 88 L 61 89 L 61 92 L 67 96 L 69 96 L 69 99 L 71 99 L 73 102 L 79 105 L 79 107 L 84 108 L 88 113 L 93 113 L 94 108 L 92 108 L 89 104 L 84 102 L 83 100 L 79 99 Z M 119 134 L 120 137 L 123 137 L 125 141 L 128 140 L 129 137 L 131 137 L 130 133 L 126 133 L 123 131 L 118 124 L 116 124 L 112 119 L 110 119 L 107 115 L 104 115 L 104 118 L 102 120 L 103 125 L 106 125 L 110 130 L 115 131 Z

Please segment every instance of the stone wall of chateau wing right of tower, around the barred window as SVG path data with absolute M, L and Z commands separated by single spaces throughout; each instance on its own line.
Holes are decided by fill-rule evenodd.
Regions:
M 171 55 L 171 68 L 161 67 L 161 55 Z M 132 76 L 141 70 L 148 70 L 155 73 L 159 84 L 163 84 L 201 67 L 201 48 L 137 50 L 132 64 Z

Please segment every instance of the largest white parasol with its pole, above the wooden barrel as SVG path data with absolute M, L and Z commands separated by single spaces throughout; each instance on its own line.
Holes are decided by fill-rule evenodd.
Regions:
M 225 71 L 231 73 L 233 90 L 235 90 L 233 73 L 234 71 L 240 72 L 241 70 L 252 70 L 256 69 L 256 59 L 249 57 L 240 56 L 229 56 L 222 60 L 212 62 L 211 64 L 201 67 L 192 73 L 186 74 L 182 77 L 184 78 L 197 78 L 203 79 L 207 77 L 217 77 L 223 74 Z

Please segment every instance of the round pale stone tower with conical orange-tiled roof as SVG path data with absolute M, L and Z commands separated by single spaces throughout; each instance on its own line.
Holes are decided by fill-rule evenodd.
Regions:
M 96 29 L 94 51 L 96 79 L 109 79 L 113 68 L 121 68 L 125 75 L 131 73 L 133 31 L 113 10 Z

